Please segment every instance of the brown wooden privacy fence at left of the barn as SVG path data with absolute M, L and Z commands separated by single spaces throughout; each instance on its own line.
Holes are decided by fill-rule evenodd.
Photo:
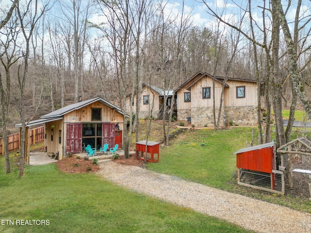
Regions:
M 35 144 L 44 140 L 44 126 L 29 130 L 30 138 L 29 144 Z M 19 149 L 19 133 L 8 135 L 8 147 L 9 151 Z M 0 155 L 4 154 L 3 138 L 0 137 Z

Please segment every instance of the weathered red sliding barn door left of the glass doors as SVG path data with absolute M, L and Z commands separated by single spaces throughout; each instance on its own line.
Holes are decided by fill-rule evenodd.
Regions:
M 67 124 L 66 153 L 81 152 L 82 124 Z

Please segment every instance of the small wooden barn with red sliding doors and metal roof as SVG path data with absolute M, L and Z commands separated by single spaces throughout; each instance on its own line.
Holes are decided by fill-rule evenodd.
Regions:
M 26 127 L 36 124 L 44 124 L 46 152 L 58 153 L 59 160 L 66 154 L 83 152 L 88 144 L 97 149 L 105 143 L 109 148 L 115 144 L 122 148 L 123 112 L 102 98 L 70 104 L 28 122 Z

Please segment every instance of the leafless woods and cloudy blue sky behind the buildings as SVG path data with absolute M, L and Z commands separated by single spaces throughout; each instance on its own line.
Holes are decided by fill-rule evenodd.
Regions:
M 4 138 L 23 122 L 24 141 L 24 122 L 102 97 L 129 113 L 126 155 L 134 128 L 138 136 L 135 116 L 141 101 L 137 95 L 133 113 L 124 105 L 126 97 L 133 100 L 142 83 L 175 89 L 198 71 L 256 80 L 258 88 L 265 84 L 265 101 L 261 103 L 258 96 L 259 144 L 271 141 L 272 109 L 277 146 L 289 139 L 296 107 L 311 118 L 309 0 L 1 0 L 0 4 Z M 290 109 L 285 129 L 284 107 Z M 267 114 L 264 128 L 261 110 Z M 23 158 L 23 145 L 20 152 Z

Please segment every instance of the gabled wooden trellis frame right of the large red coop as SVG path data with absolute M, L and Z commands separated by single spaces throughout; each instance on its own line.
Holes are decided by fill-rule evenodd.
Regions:
M 281 153 L 281 166 L 279 168 L 288 168 L 288 183 L 289 187 L 293 187 L 293 171 L 309 174 L 311 170 L 294 169 L 293 163 L 301 164 L 302 155 L 310 156 L 311 159 L 311 141 L 306 137 L 299 137 L 293 141 L 286 143 L 279 147 L 276 152 Z M 285 166 L 284 154 L 288 154 L 288 166 Z M 310 195 L 311 195 L 311 183 L 309 183 Z M 311 198 L 310 198 L 311 200 Z

